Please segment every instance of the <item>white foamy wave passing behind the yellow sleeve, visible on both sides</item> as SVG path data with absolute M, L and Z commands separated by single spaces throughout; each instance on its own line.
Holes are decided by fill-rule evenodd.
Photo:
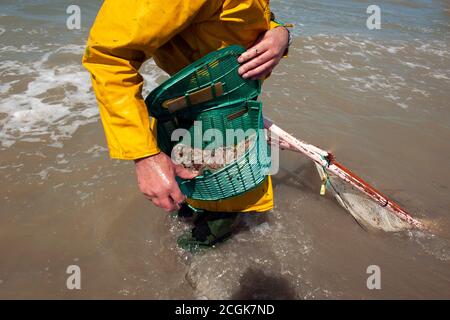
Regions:
M 55 45 L 52 45 L 55 46 Z M 37 52 L 35 46 L 2 47 L 0 52 Z M 37 61 L 7 60 L 0 65 L 0 145 L 17 141 L 61 147 L 79 127 L 98 120 L 89 73 L 81 65 L 82 45 L 45 52 Z M 59 60 L 64 60 L 61 64 Z M 151 64 L 146 87 L 156 86 Z

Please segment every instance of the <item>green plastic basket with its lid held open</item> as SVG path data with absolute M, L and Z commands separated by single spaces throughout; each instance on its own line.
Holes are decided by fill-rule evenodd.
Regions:
M 165 81 L 146 99 L 149 113 L 157 119 L 158 146 L 168 155 L 179 143 L 172 141 L 176 129 L 186 129 L 194 137 L 192 143 L 202 140 L 195 137 L 197 122 L 202 132 L 216 129 L 223 136 L 227 129 L 256 130 L 254 141 L 239 159 L 191 180 L 178 179 L 182 192 L 191 199 L 234 197 L 257 187 L 267 177 L 270 151 L 262 131 L 262 106 L 254 101 L 261 92 L 261 83 L 239 76 L 237 58 L 243 52 L 240 46 L 212 52 Z M 207 145 L 200 144 L 200 148 Z

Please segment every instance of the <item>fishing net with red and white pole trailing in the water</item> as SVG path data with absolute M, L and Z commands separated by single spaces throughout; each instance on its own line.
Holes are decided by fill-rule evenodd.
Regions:
M 423 228 L 422 222 L 337 163 L 332 154 L 294 138 L 270 119 L 264 119 L 264 126 L 270 132 L 268 143 L 301 153 L 314 161 L 322 180 L 320 194 L 324 195 L 329 190 L 362 227 L 389 232 Z

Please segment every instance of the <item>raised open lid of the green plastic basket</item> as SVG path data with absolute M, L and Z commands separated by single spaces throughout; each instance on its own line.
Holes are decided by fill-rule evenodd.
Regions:
M 150 114 L 164 122 L 174 116 L 189 118 L 192 112 L 209 107 L 256 99 L 261 82 L 238 74 L 237 58 L 244 52 L 243 47 L 233 45 L 188 65 L 148 95 L 145 102 Z

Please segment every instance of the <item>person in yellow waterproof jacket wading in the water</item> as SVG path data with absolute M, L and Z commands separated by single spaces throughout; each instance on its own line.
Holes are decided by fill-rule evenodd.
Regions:
M 158 148 L 155 121 L 149 119 L 141 93 L 142 63 L 153 58 L 173 75 L 211 51 L 239 44 L 248 48 L 238 59 L 240 75 L 265 78 L 287 50 L 288 39 L 287 29 L 271 20 L 269 0 L 103 3 L 83 64 L 92 75 L 111 157 L 135 161 L 139 188 L 156 206 L 179 210 L 186 199 L 175 176 L 189 179 L 193 174 L 175 165 Z M 235 198 L 215 202 L 188 199 L 188 203 L 221 212 L 219 216 L 209 215 L 213 220 L 222 219 L 225 212 L 268 211 L 273 208 L 271 179 Z M 222 236 L 216 232 L 207 243 Z

